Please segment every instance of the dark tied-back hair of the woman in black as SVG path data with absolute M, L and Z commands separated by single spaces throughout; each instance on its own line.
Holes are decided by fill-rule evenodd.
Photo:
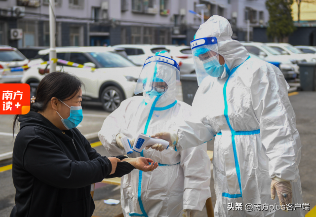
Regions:
M 69 97 L 73 98 L 79 92 L 81 86 L 84 87 L 84 84 L 75 75 L 67 72 L 51 72 L 40 81 L 36 91 L 36 100 L 35 103 L 31 103 L 30 111 L 39 112 L 45 110 L 53 97 L 60 100 L 66 100 Z M 13 119 L 13 137 L 18 117 L 19 115 L 17 114 Z

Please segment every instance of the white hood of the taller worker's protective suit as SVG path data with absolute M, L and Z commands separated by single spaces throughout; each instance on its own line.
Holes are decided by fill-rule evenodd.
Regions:
M 249 56 L 246 48 L 237 40 L 232 39 L 231 24 L 224 17 L 213 15 L 200 25 L 195 39 L 203 37 L 216 37 L 218 53 L 225 59 L 230 70 L 243 63 Z

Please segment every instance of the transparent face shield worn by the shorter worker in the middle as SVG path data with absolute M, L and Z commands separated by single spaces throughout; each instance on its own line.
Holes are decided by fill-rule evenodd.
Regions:
M 151 97 L 166 93 L 177 95 L 179 81 L 179 65 L 174 60 L 163 56 L 153 56 L 145 61 L 134 93 L 137 95 L 145 92 Z

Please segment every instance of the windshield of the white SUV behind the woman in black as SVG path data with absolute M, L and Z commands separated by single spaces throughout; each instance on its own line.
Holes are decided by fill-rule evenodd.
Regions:
M 113 52 L 91 52 L 89 53 L 102 68 L 117 68 L 136 66 L 121 55 Z

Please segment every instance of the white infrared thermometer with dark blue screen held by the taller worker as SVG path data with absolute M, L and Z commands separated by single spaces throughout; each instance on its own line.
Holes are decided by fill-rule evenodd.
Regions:
M 146 146 L 152 146 L 155 144 L 161 144 L 164 149 L 168 149 L 169 142 L 161 139 L 155 139 L 145 134 L 139 134 L 136 138 L 133 146 L 133 150 L 141 152 Z

